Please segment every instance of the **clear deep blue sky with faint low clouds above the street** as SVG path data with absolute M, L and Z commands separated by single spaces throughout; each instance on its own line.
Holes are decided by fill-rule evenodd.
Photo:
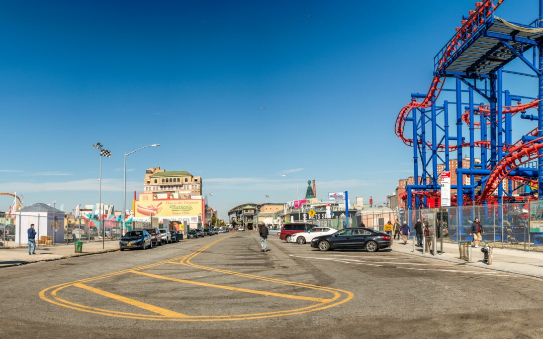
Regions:
M 427 91 L 433 56 L 473 6 L 2 2 L 0 191 L 65 210 L 94 203 L 91 145 L 101 142 L 112 151 L 103 201 L 121 208 L 123 152 L 161 143 L 129 157 L 129 190 L 141 191 L 145 169 L 160 165 L 203 177 L 222 216 L 265 195 L 293 199 L 281 173 L 300 194 L 315 179 L 320 198 L 349 190 L 382 202 L 412 173 L 412 150 L 394 135 L 397 112 Z M 527 22 L 529 13 L 535 0 L 509 0 L 500 15 Z M 509 81 L 535 94 L 531 82 Z

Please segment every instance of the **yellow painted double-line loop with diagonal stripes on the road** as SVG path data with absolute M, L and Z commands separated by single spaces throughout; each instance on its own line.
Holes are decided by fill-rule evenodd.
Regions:
M 198 254 L 204 252 L 211 246 L 217 244 L 220 241 L 223 241 L 225 239 L 230 238 L 230 236 L 226 236 L 225 238 L 218 239 L 215 241 L 210 242 L 209 244 L 199 248 L 197 251 L 195 251 L 192 254 L 184 255 L 182 257 L 177 257 L 173 259 L 163 260 L 159 261 L 154 264 L 144 265 L 140 267 L 134 267 L 134 268 L 128 268 L 126 270 L 112 272 L 108 274 L 102 274 L 101 276 L 96 277 L 90 277 L 86 279 L 80 279 L 75 280 L 74 282 L 59 284 L 55 286 L 47 287 L 46 289 L 43 289 L 40 291 L 40 298 L 45 300 L 46 302 L 62 306 L 68 309 L 72 310 L 78 310 L 83 312 L 88 312 L 92 314 L 97 315 L 104 315 L 104 316 L 110 316 L 110 317 L 118 317 L 118 318 L 130 318 L 130 319 L 146 319 L 146 320 L 160 320 L 160 321 L 242 321 L 242 320 L 249 320 L 249 319 L 260 319 L 260 318 L 271 318 L 271 317 L 281 317 L 281 316 L 292 316 L 292 315 L 298 315 L 298 314 L 304 314 L 307 312 L 315 312 L 319 310 L 324 310 L 327 308 L 331 308 L 334 306 L 338 306 L 340 304 L 346 303 L 349 300 L 352 299 L 353 294 L 349 291 L 340 290 L 340 289 L 334 289 L 332 287 L 325 287 L 325 286 L 318 286 L 318 285 L 311 285 L 311 284 L 305 284 L 305 283 L 299 283 L 299 282 L 290 282 L 288 280 L 281 280 L 281 279 L 275 279 L 275 278 L 268 278 L 268 277 L 262 277 L 262 276 L 255 276 L 254 274 L 247 274 L 247 273 L 241 273 L 241 272 L 235 272 L 235 271 L 228 271 L 228 270 L 221 270 L 219 268 L 214 267 L 207 267 L 202 266 L 198 264 L 191 263 L 191 260 L 197 257 Z M 282 284 L 282 285 L 288 285 L 288 286 L 295 286 L 295 287 L 303 287 L 308 290 L 315 290 L 315 291 L 323 291 L 330 293 L 332 295 L 331 298 L 317 298 L 317 297 L 306 297 L 306 296 L 299 296 L 299 295 L 289 295 L 286 293 L 277 293 L 277 292 L 269 292 L 269 291 L 262 291 L 262 290 L 251 290 L 251 289 L 243 289 L 240 287 L 232 287 L 228 285 L 217 285 L 217 284 L 210 284 L 210 283 L 203 283 L 203 282 L 195 282 L 193 280 L 187 280 L 187 279 L 178 279 L 178 278 L 172 278 L 172 277 L 166 277 L 166 276 L 159 276 L 157 274 L 152 274 L 148 272 L 142 272 L 142 270 L 146 270 L 147 268 L 153 268 L 160 265 L 184 265 L 188 267 L 198 268 L 200 270 L 205 271 L 212 271 L 217 273 L 223 273 L 223 274 L 229 274 L 232 276 L 247 278 L 248 280 L 262 280 L 264 282 L 269 283 L 275 283 L 275 284 Z M 296 309 L 287 309 L 282 311 L 271 311 L 271 312 L 261 312 L 261 313 L 251 313 L 251 314 L 237 314 L 237 315 L 187 315 L 181 310 L 167 310 L 160 308 L 156 305 L 151 305 L 148 303 L 141 302 L 139 300 L 135 300 L 132 298 L 128 298 L 125 296 L 118 295 L 116 293 L 111 293 L 109 291 L 104 291 L 101 289 L 97 289 L 95 287 L 91 287 L 86 285 L 85 283 L 93 282 L 100 279 L 105 279 L 109 277 L 114 276 L 120 276 L 122 274 L 138 274 L 140 276 L 145 276 L 148 278 L 154 278 L 159 280 L 168 280 L 170 282 L 176 282 L 180 284 L 192 284 L 192 285 L 199 285 L 203 287 L 210 287 L 210 288 L 216 288 L 216 289 L 223 289 L 223 290 L 230 290 L 230 291 L 236 291 L 240 293 L 253 293 L 257 295 L 262 296 L 269 296 L 269 297 L 277 297 L 277 298 L 285 298 L 285 299 L 297 299 L 297 300 L 304 300 L 308 302 L 314 302 L 315 304 L 310 306 L 305 306 L 302 308 L 296 308 Z M 110 298 L 113 300 L 116 300 L 117 302 L 121 302 L 127 305 L 130 305 L 135 308 L 140 308 L 142 310 L 146 310 L 151 313 L 155 314 L 138 314 L 138 313 L 131 313 L 131 312 L 121 312 L 121 311 L 113 311 L 113 310 L 106 310 L 106 309 L 100 309 L 100 308 L 94 308 L 87 305 L 82 305 L 79 303 L 75 303 L 66 299 L 63 299 L 59 297 L 59 291 L 64 290 L 68 287 L 74 287 L 79 290 L 84 290 L 89 293 L 95 293 L 97 295 Z

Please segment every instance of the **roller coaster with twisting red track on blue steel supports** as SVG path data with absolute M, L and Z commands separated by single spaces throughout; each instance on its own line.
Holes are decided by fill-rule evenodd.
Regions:
M 407 199 L 409 209 L 428 207 L 429 200 L 439 199 L 438 165 L 444 164 L 444 171 L 449 171 L 451 152 L 458 161 L 457 185 L 451 186 L 456 190 L 451 196 L 453 205 L 543 199 L 543 0 L 539 0 L 539 17 L 527 25 L 496 16 L 505 1 L 475 4 L 475 10 L 463 17 L 462 26 L 434 57 L 434 78 L 428 93 L 412 94 L 396 119 L 396 136 L 413 147 L 414 184 L 407 185 L 407 192 L 400 196 Z M 508 69 L 513 60 L 520 60 L 531 74 Z M 504 90 L 504 73 L 537 78 L 537 97 Z M 454 79 L 453 89 L 444 88 L 447 78 Z M 445 91 L 456 94 L 455 102 L 438 103 Z M 476 104 L 474 93 L 487 104 Z M 449 131 L 450 108 L 456 108 L 454 136 Z M 526 114 L 532 108 L 538 110 L 535 116 Z M 514 116 L 536 121 L 535 128 L 516 142 L 512 140 Z M 468 140 L 463 136 L 464 124 Z M 409 125 L 412 135 L 405 130 Z M 469 150 L 469 168 L 463 168 L 465 149 Z M 476 152 L 480 163 L 475 161 Z M 469 183 L 463 183 L 464 176 L 469 176 Z M 509 183 L 507 189 L 503 188 L 504 180 Z M 513 182 L 525 191 L 516 194 Z

